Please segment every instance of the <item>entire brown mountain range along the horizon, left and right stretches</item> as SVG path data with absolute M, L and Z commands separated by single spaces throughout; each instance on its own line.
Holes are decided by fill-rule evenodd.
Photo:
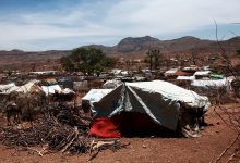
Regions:
M 190 53 L 199 52 L 218 52 L 219 45 L 227 51 L 240 49 L 240 37 L 233 37 L 224 41 L 202 40 L 192 36 L 185 36 L 172 40 L 159 40 L 151 36 L 127 37 L 113 47 L 103 45 L 84 46 L 85 48 L 101 49 L 108 55 L 143 57 L 148 49 L 158 48 L 165 53 Z M 71 50 L 49 50 L 40 52 L 24 52 L 21 50 L 0 51 L 0 64 L 16 64 L 25 62 L 44 62 L 57 60 L 69 55 Z

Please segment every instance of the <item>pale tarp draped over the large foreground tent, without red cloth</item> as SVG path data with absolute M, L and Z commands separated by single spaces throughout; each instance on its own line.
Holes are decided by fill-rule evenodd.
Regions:
M 146 113 L 155 123 L 176 130 L 182 105 L 206 111 L 209 101 L 163 80 L 125 83 L 93 102 L 92 112 L 95 117 L 110 117 L 122 111 Z

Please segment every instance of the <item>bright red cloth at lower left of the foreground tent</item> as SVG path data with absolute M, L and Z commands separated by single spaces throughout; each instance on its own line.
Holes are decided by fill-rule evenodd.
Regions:
M 101 117 L 94 120 L 94 123 L 92 124 L 89 129 L 89 135 L 103 138 L 121 137 L 118 124 L 110 117 Z

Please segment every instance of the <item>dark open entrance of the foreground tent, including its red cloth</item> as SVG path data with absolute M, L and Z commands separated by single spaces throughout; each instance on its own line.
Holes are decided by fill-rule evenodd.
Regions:
M 163 130 L 167 131 L 163 131 Z M 101 138 L 118 138 L 122 136 L 169 135 L 171 130 L 156 124 L 147 114 L 121 112 L 112 117 L 94 120 L 89 135 Z

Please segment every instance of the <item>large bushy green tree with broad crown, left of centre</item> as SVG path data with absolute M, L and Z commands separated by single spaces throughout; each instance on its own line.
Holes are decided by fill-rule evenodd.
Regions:
M 67 71 L 82 71 L 88 75 L 93 73 L 99 75 L 105 67 L 115 66 L 116 63 L 113 59 L 106 57 L 101 50 L 95 48 L 77 48 L 69 57 L 61 60 L 64 61 L 61 63 Z

